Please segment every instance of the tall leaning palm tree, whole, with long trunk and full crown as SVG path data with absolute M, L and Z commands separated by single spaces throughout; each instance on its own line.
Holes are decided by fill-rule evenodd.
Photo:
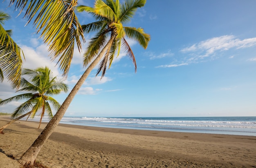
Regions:
M 130 46 L 125 40 L 125 36 L 136 40 L 144 49 L 146 49 L 150 40 L 150 35 L 144 33 L 141 28 L 136 29 L 132 27 L 124 27 L 123 23 L 130 21 L 130 18 L 135 14 L 137 8 L 143 7 L 145 3 L 146 0 L 126 0 L 124 4 L 120 4 L 119 0 L 96 0 L 93 8 L 85 6 L 77 8 L 79 11 L 92 13 L 94 18 L 97 20 L 94 23 L 83 26 L 85 33 L 98 31 L 94 38 L 89 42 L 89 46 L 85 51 L 83 59 L 84 66 L 87 66 L 90 62 L 92 63 L 88 66 L 42 133 L 34 141 L 32 146 L 22 155 L 20 158 L 20 162 L 22 164 L 34 164 L 34 160 L 36 159 L 45 140 L 52 134 L 54 128 L 56 128 L 61 118 L 64 116 L 65 111 L 79 88 L 103 56 L 104 58 L 102 59 L 98 69 L 98 73 L 100 71 L 103 72 L 102 77 L 106 71 L 107 62 L 111 65 L 116 51 L 118 55 L 121 46 L 124 47 L 123 49 L 127 52 L 127 55 L 132 58 L 136 70 L 135 57 Z

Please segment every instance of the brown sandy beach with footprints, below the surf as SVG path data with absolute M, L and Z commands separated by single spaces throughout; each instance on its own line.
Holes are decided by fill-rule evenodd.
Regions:
M 0 116 L 0 126 L 9 117 Z M 0 152 L 19 158 L 45 127 L 17 121 Z M 59 124 L 37 161 L 49 168 L 255 168 L 256 136 L 176 133 Z

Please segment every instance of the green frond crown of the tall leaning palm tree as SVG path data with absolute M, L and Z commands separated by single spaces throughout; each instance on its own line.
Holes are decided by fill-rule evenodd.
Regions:
M 130 48 L 125 37 L 137 41 L 144 49 L 147 48 L 150 41 L 150 35 L 144 33 L 142 28 L 125 27 L 124 24 L 128 23 L 135 15 L 138 7 L 143 7 L 146 0 L 126 0 L 125 3 L 120 4 L 119 0 L 96 0 L 94 7 L 78 6 L 77 11 L 86 11 L 91 13 L 95 18 L 95 22 L 82 25 L 84 33 L 98 31 L 98 33 L 90 40 L 88 47 L 83 55 L 83 64 L 87 66 L 94 60 L 97 55 L 102 51 L 110 40 L 108 36 L 113 39 L 111 47 L 109 47 L 97 71 L 97 75 L 102 71 L 101 77 L 104 76 L 107 66 L 111 66 L 112 61 L 119 55 L 121 49 L 126 52 L 130 57 L 134 66 L 135 72 L 137 70 L 135 56 Z

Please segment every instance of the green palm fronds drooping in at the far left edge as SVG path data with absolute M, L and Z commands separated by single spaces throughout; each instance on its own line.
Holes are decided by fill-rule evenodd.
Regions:
M 12 31 L 5 30 L 2 25 L 10 16 L 0 11 L 0 82 L 4 80 L 4 74 L 7 80 L 13 83 L 13 86 L 19 86 L 22 69 L 22 50 L 11 38 Z

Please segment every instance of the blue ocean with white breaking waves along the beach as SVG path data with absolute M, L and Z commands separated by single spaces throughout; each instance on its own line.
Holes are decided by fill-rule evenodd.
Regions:
M 39 117 L 29 120 L 39 121 Z M 49 122 L 47 117 L 44 117 L 43 122 Z M 60 123 L 106 128 L 256 136 L 256 117 L 63 117 Z

